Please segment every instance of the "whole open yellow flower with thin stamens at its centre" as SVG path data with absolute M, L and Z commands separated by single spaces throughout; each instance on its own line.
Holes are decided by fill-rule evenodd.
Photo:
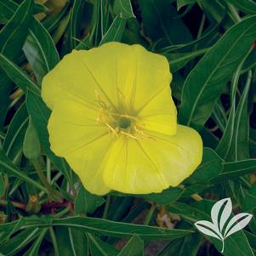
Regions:
M 202 161 L 202 139 L 177 124 L 168 60 L 140 45 L 74 50 L 43 78 L 51 149 L 86 189 L 147 194 Z

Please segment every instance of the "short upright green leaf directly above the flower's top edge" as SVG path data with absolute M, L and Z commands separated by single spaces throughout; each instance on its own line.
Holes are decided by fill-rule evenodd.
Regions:
M 116 17 L 108 31 L 105 32 L 104 37 L 102 38 L 100 45 L 103 43 L 108 43 L 112 41 L 119 42 L 122 38 L 122 33 L 125 29 L 126 20 L 120 17 Z

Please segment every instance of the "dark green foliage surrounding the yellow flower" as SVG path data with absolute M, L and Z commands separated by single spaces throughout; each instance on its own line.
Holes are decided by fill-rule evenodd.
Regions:
M 230 197 L 253 219 L 224 254 L 254 255 L 255 39 L 253 0 L 0 1 L 0 254 L 218 255 L 194 224 Z M 110 41 L 168 58 L 179 123 L 205 146 L 179 187 L 94 196 L 50 150 L 43 76 L 72 49 Z

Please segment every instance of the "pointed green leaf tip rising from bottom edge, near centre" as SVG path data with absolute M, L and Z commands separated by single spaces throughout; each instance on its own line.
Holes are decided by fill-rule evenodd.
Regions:
M 144 242 L 138 237 L 133 236 L 128 243 L 122 248 L 122 251 L 118 253 L 118 256 L 143 256 L 144 254 Z

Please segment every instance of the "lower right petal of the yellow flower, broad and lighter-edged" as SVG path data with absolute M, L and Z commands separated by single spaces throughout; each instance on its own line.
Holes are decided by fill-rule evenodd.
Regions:
M 153 139 L 120 138 L 111 146 L 105 184 L 125 193 L 159 193 L 179 185 L 202 161 L 202 139 L 178 125 L 174 136 L 151 133 Z

